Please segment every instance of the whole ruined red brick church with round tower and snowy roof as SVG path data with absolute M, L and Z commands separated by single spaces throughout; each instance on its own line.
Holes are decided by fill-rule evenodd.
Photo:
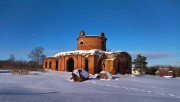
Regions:
M 77 50 L 60 52 L 53 57 L 45 58 L 43 68 L 66 72 L 83 68 L 90 74 L 102 70 L 111 74 L 131 74 L 131 56 L 124 51 L 106 51 L 106 40 L 104 33 L 99 36 L 88 36 L 81 31 L 77 38 Z

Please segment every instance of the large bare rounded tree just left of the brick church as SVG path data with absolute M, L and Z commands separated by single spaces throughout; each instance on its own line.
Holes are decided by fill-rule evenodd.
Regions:
M 33 67 L 42 65 L 43 59 L 46 57 L 43 52 L 44 48 L 42 47 L 36 47 L 30 52 L 28 58 L 33 62 Z

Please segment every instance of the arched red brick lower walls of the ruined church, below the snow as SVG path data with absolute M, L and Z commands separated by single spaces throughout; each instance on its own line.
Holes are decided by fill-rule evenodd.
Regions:
M 56 70 L 56 61 L 58 61 L 58 70 L 59 71 L 68 71 L 67 70 L 67 61 L 72 58 L 74 60 L 74 69 L 77 68 L 83 68 L 85 69 L 85 59 L 88 59 L 88 71 L 91 74 L 98 73 L 99 66 L 102 67 L 102 70 L 109 71 L 111 74 L 131 74 L 131 56 L 129 56 L 126 53 L 122 53 L 116 57 L 114 60 L 105 60 L 105 59 L 99 59 L 99 56 L 96 55 L 66 55 L 66 56 L 60 56 L 58 58 L 50 57 L 44 59 L 43 68 L 46 69 L 46 62 L 47 62 L 47 69 L 49 68 L 49 64 L 51 62 L 51 69 Z M 104 63 L 99 63 L 99 60 L 101 60 Z M 101 65 L 99 65 L 101 64 Z M 119 64 L 119 65 L 118 65 Z M 118 72 L 119 68 L 119 72 Z M 127 72 L 127 70 L 129 72 Z

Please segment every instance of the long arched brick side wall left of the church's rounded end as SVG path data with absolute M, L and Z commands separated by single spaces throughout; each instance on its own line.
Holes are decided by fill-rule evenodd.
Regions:
M 67 70 L 67 61 L 72 58 L 74 60 L 74 69 L 77 68 L 83 68 L 85 69 L 85 59 L 88 59 L 88 70 L 89 73 L 91 74 L 95 74 L 96 70 L 95 68 L 97 68 L 97 63 L 95 56 L 94 55 L 89 55 L 87 58 L 85 56 L 82 55 L 67 55 L 67 56 L 61 56 L 58 58 L 45 58 L 44 59 L 44 64 L 43 64 L 43 68 L 44 69 L 51 69 L 51 70 L 56 70 L 56 61 L 58 61 L 58 70 L 59 71 L 68 71 Z M 47 62 L 47 67 L 46 67 L 46 62 Z M 50 62 L 51 62 L 51 68 L 50 66 Z

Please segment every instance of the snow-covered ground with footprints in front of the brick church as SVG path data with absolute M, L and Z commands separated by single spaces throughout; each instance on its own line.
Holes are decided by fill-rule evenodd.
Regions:
M 180 102 L 180 79 L 114 75 L 70 81 L 68 72 L 0 73 L 0 102 Z

